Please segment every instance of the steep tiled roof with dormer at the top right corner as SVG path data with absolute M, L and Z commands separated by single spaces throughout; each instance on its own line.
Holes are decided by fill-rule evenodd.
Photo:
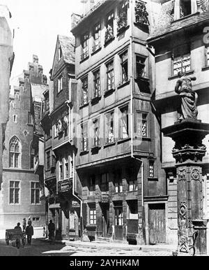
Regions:
M 162 10 L 157 22 L 157 27 L 153 29 L 148 38 L 148 42 L 154 40 L 157 37 L 164 36 L 165 34 L 173 31 L 178 31 L 185 27 L 189 27 L 192 24 L 203 22 L 209 19 L 209 11 L 204 13 L 194 13 L 187 17 L 183 17 L 179 20 L 174 20 L 174 3 L 175 0 L 171 0 L 162 4 Z

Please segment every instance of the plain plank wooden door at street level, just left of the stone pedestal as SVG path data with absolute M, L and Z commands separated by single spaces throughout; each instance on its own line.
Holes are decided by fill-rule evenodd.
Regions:
M 149 205 L 149 242 L 166 243 L 165 205 Z

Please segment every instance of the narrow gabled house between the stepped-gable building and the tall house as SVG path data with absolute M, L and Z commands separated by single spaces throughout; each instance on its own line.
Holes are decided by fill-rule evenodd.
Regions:
M 75 138 L 73 115 L 76 113 L 75 41 L 58 36 L 50 87 L 44 93 L 42 127 L 45 130 L 45 186 L 47 220 L 56 225 L 56 238 L 79 236 L 77 205 L 73 190 L 75 171 Z M 75 206 L 75 207 L 74 207 Z M 70 226 L 73 224 L 73 226 Z

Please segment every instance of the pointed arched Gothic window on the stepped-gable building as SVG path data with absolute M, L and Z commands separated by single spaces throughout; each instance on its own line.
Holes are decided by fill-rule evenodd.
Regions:
M 20 141 L 16 136 L 11 138 L 9 144 L 9 166 L 10 168 L 20 168 Z

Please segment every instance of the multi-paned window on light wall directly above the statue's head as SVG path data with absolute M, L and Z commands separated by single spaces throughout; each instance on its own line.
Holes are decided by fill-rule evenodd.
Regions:
M 186 73 L 191 69 L 190 53 L 183 56 L 173 58 L 173 75 L 178 75 L 178 72 Z

